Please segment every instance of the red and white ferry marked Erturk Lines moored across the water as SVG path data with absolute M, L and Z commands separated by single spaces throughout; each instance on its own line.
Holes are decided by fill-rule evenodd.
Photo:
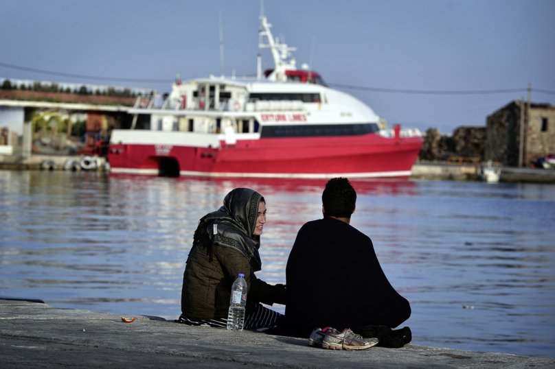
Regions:
M 275 69 L 256 78 L 209 76 L 139 98 L 131 130 L 113 130 L 115 173 L 170 176 L 407 177 L 422 145 L 418 130 L 384 130 L 374 111 L 334 90 L 318 73 L 297 70 L 295 48 L 274 40 L 260 17 L 260 48 Z M 263 43 L 264 36 L 267 43 Z M 142 126 L 142 127 L 140 127 Z M 137 129 L 142 128 L 142 129 Z

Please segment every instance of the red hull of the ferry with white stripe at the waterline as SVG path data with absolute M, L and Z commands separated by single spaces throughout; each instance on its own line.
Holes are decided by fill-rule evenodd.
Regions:
M 239 140 L 221 147 L 111 145 L 115 172 L 157 174 L 161 158 L 174 158 L 179 173 L 194 176 L 277 176 L 325 178 L 409 176 L 422 138 L 387 139 L 378 134 Z M 159 145 L 158 145 L 159 146 Z

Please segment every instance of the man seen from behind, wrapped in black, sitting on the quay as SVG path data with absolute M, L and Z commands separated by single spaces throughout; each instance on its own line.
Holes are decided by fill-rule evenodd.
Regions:
M 394 328 L 411 315 L 389 284 L 370 237 L 350 226 L 356 192 L 333 178 L 322 194 L 324 219 L 302 226 L 286 267 L 285 328 L 308 337 L 316 327 Z

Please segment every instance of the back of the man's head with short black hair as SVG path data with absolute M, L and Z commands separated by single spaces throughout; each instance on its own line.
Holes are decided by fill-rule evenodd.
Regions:
M 356 191 L 347 178 L 332 178 L 322 193 L 324 217 L 350 218 L 356 203 Z

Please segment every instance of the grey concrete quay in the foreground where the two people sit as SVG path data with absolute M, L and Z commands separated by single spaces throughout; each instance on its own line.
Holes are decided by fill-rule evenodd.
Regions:
M 408 344 L 361 351 L 311 348 L 307 340 L 256 331 L 186 326 L 0 300 L 0 366 L 78 368 L 555 368 L 555 359 Z

